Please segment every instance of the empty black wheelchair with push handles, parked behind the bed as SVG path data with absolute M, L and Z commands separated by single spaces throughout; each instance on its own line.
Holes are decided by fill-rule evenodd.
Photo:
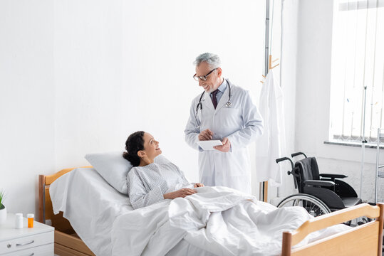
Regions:
M 331 213 L 335 210 L 356 206 L 361 203 L 356 191 L 340 178 L 343 174 L 319 174 L 315 157 L 307 157 L 302 152 L 291 154 L 291 157 L 303 155 L 304 159 L 294 162 L 288 157 L 276 159 L 291 162 L 288 175 L 294 176 L 295 188 L 299 193 L 287 196 L 277 207 L 302 206 L 314 217 Z

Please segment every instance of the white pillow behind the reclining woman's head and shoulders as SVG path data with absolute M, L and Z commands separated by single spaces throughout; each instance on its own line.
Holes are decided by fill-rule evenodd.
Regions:
M 85 159 L 93 166 L 105 181 L 117 191 L 128 195 L 128 172 L 133 167 L 130 161 L 123 157 L 123 151 L 86 154 Z M 155 158 L 157 164 L 169 162 L 164 156 Z

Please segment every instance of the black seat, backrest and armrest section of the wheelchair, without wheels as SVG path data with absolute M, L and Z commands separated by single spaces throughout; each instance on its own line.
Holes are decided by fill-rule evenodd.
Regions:
M 328 208 L 339 210 L 361 203 L 356 191 L 346 182 L 338 178 L 346 178 L 341 174 L 319 174 L 315 157 L 306 157 L 296 161 L 294 169 L 295 186 L 299 193 L 306 193 L 321 199 Z

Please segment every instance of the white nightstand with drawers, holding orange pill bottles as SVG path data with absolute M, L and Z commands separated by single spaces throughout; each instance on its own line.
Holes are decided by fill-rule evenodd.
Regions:
M 6 222 L 0 225 L 1 256 L 53 256 L 54 228 L 33 221 L 33 228 L 15 229 L 15 215 L 8 213 Z

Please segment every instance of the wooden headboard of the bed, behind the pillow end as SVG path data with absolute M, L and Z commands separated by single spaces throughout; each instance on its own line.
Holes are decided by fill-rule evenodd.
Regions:
M 86 166 L 91 168 L 92 166 Z M 49 186 L 53 181 L 56 181 L 57 178 L 63 176 L 64 174 L 72 171 L 76 168 L 68 168 L 58 171 L 56 174 L 52 175 L 39 175 L 38 176 L 38 221 L 41 223 L 46 223 L 46 220 L 51 220 L 52 226 L 56 230 L 64 233 L 74 233 L 71 224 L 69 221 L 63 217 L 63 213 L 54 214 L 52 208 L 51 196 L 49 196 Z

